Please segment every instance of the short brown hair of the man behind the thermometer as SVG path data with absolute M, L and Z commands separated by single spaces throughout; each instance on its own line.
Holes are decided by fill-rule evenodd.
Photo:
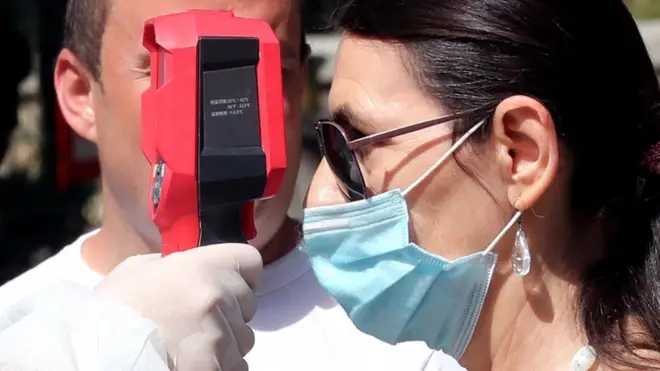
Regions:
M 71 50 L 97 81 L 101 78 L 101 43 L 108 21 L 110 1 L 112 0 L 69 0 L 66 8 L 63 46 Z M 301 4 L 303 3 L 304 1 L 301 1 Z M 301 32 L 300 42 L 301 57 L 307 58 L 309 46 L 304 30 Z

